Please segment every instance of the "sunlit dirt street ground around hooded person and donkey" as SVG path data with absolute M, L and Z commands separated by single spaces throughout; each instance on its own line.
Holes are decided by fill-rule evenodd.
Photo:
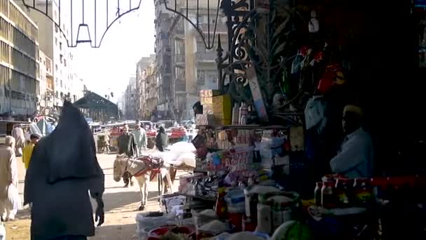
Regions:
M 137 182 L 133 187 L 123 188 L 123 181 L 115 182 L 113 180 L 113 162 L 114 154 L 99 154 L 98 160 L 105 173 L 105 223 L 97 227 L 96 236 L 90 240 L 114 239 L 129 240 L 137 239 L 136 235 L 136 215 L 139 213 L 137 208 L 140 203 L 140 193 Z M 25 170 L 22 161 L 18 159 L 18 169 L 20 177 L 20 192 L 22 194 Z M 174 182 L 174 188 L 177 188 L 177 182 Z M 158 211 L 158 185 L 157 182 L 150 182 L 149 201 L 145 211 Z M 174 189 L 175 191 L 177 189 Z M 19 211 L 15 221 L 6 222 L 7 240 L 29 240 L 29 225 L 31 223 L 28 209 Z

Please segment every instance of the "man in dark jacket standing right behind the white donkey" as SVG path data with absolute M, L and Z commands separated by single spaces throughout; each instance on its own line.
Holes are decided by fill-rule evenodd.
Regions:
M 135 136 L 129 132 L 128 124 L 123 126 L 123 134 L 118 137 L 118 154 L 126 154 L 128 157 L 137 156 L 137 145 L 135 142 Z M 133 186 L 132 175 L 125 172 L 123 174 L 124 187 Z

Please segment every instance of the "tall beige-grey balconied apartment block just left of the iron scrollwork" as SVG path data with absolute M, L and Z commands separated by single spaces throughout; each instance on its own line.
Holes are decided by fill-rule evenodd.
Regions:
M 226 20 L 221 12 L 219 12 L 219 18 L 216 18 L 217 9 L 212 8 L 217 6 L 217 1 L 219 0 L 209 1 L 209 11 L 205 1 L 180 0 L 174 3 L 177 4 L 176 9 L 181 13 L 186 13 L 186 6 L 188 6 L 188 18 L 194 23 L 198 21 L 198 28 L 205 34 L 207 43 L 209 43 L 208 34 L 210 34 L 210 41 L 213 41 L 213 29 L 216 25 L 216 35 L 221 35 L 222 47 L 225 48 L 228 46 Z M 166 112 L 172 110 L 174 118 L 190 119 L 193 116 L 192 105 L 199 100 L 198 92 L 202 89 L 217 88 L 215 62 L 217 52 L 216 48 L 206 49 L 199 32 L 187 20 L 180 15 L 165 15 L 163 9 L 165 9 L 163 1 L 158 1 L 156 3 L 156 53 L 157 60 L 162 61 L 157 64 L 158 69 L 162 69 L 158 71 L 159 91 L 164 92 L 170 89 L 169 92 L 164 92 L 170 95 L 165 94 L 163 98 L 160 98 L 158 107 L 163 107 L 161 104 L 165 102 Z M 167 31 L 165 27 L 168 27 Z M 217 37 L 214 41 L 214 45 L 217 46 Z M 163 44 L 160 49 L 158 44 Z M 209 44 L 211 45 L 212 42 Z M 169 49 L 170 51 L 167 51 Z M 170 61 L 165 62 L 165 56 L 169 55 L 171 55 Z M 169 60 L 169 58 L 166 59 Z M 165 67 L 168 66 L 166 63 L 170 65 L 169 68 Z

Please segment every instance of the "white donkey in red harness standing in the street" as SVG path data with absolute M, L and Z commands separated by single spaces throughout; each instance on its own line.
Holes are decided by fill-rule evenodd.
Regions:
M 164 167 L 163 167 L 164 168 Z M 139 206 L 139 211 L 143 211 L 145 209 L 146 201 L 148 200 L 148 188 L 147 183 L 149 182 L 149 177 L 151 174 L 151 166 L 146 163 L 146 161 L 131 159 L 125 154 L 118 154 L 116 159 L 114 160 L 114 180 L 119 182 L 123 177 L 123 173 L 128 172 L 132 176 L 134 176 L 139 185 L 139 189 L 141 192 L 141 205 Z M 162 169 L 163 170 L 163 169 Z M 165 173 L 165 176 L 163 176 Z M 168 169 L 164 169 L 164 171 L 160 171 L 163 180 L 163 186 L 168 185 L 170 189 L 172 188 L 172 180 L 170 178 L 170 173 Z M 160 184 L 160 182 L 158 182 Z M 161 189 L 159 194 L 164 194 L 165 188 Z

